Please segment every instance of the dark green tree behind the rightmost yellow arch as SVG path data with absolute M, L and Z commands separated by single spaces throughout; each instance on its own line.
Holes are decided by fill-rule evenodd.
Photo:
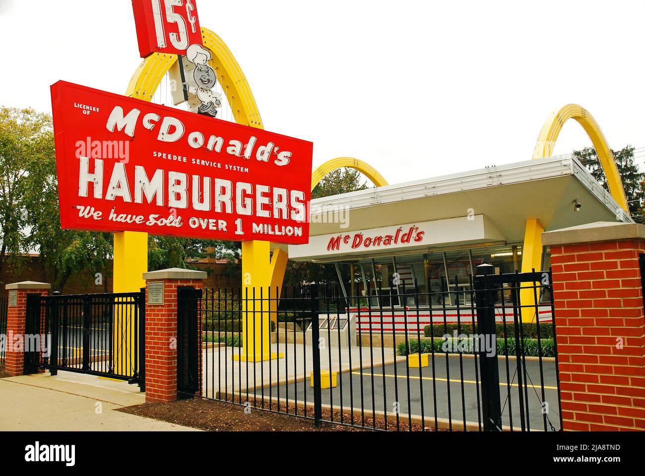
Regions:
M 645 174 L 641 173 L 634 163 L 634 148 L 628 145 L 618 151 L 612 150 L 611 152 L 616 161 L 620 180 L 622 181 L 622 188 L 625 190 L 631 218 L 637 223 L 643 223 L 642 201 L 645 198 L 643 184 Z M 586 166 L 591 172 L 591 175 L 599 181 L 605 190 L 609 191 L 607 178 L 602 171 L 598 155 L 593 147 L 574 150 L 573 157 L 578 159 L 582 165 Z

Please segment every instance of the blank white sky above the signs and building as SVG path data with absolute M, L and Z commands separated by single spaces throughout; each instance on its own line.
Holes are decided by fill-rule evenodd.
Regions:
M 643 0 L 195 3 L 314 166 L 357 157 L 398 183 L 528 160 L 567 103 L 645 148 Z M 59 79 L 123 94 L 141 61 L 130 0 L 0 0 L 0 31 L 5 106 L 50 112 Z M 590 145 L 570 121 L 554 154 Z

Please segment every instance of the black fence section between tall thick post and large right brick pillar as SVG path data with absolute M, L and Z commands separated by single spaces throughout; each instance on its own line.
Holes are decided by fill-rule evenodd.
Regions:
M 530 431 L 531 424 L 533 424 L 533 429 L 559 430 L 562 428 L 562 415 L 551 272 L 494 275 L 491 274 L 492 270 L 492 267 L 484 269 L 482 274 L 474 279 L 478 332 L 484 336 L 494 335 L 497 341 L 496 313 L 501 311 L 502 315 L 506 316 L 508 310 L 512 313 L 512 321 L 502 320 L 504 335 L 502 363 L 498 361 L 497 352 L 491 354 L 482 350 L 479 353 L 484 430 L 502 431 L 502 412 L 506 408 L 508 408 L 509 429 L 515 429 L 519 424 L 519 429 L 522 431 Z M 526 299 L 528 302 L 522 302 L 522 294 L 528 295 L 529 299 Z M 541 326 L 544 328 L 546 322 L 541 322 L 540 319 L 540 302 L 545 302 L 548 306 L 544 307 L 550 308 L 548 309 L 550 311 L 548 321 L 551 326 L 550 331 L 546 333 L 541 330 Z M 528 326 L 525 324 L 526 321 L 529 322 Z M 534 344 L 537 346 L 537 352 L 534 352 L 535 349 L 533 352 L 527 352 L 527 344 L 531 335 L 535 336 Z M 552 350 L 546 353 L 553 355 L 553 366 L 550 372 L 551 377 L 555 377 L 556 389 L 545 385 L 545 337 L 548 339 L 548 345 L 552 346 Z M 509 345 L 509 341 L 513 345 Z M 496 347 L 499 348 L 497 345 Z M 527 353 L 533 355 L 527 355 Z M 531 361 L 534 362 L 535 357 L 537 357 L 537 372 L 531 372 L 531 370 L 535 370 L 535 364 L 531 365 Z M 500 371 L 503 373 L 504 370 L 506 371 L 505 384 L 502 383 L 499 375 Z M 515 382 L 517 382 L 517 386 Z M 505 387 L 504 392 L 501 392 L 502 386 Z M 548 387 L 557 392 L 552 395 L 551 399 L 546 396 Z M 517 388 L 517 392 L 515 392 L 515 388 Z M 502 394 L 503 402 L 501 401 Z M 532 398 L 533 396 L 535 399 Z M 539 402 L 539 405 L 531 405 L 530 401 Z M 515 407 L 517 412 L 513 412 L 515 404 L 517 404 Z M 550 404 L 555 406 L 556 411 L 553 413 L 550 412 Z M 537 420 L 531 419 L 531 412 L 533 415 L 537 414 Z M 550 413 L 555 415 L 555 421 L 551 420 Z M 513 415 L 515 415 L 515 421 L 513 421 Z

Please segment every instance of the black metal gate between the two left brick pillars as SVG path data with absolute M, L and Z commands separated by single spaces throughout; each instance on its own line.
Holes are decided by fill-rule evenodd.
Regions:
M 27 295 L 25 373 L 46 368 L 144 386 L 145 293 Z M 29 340 L 28 340 L 29 339 Z

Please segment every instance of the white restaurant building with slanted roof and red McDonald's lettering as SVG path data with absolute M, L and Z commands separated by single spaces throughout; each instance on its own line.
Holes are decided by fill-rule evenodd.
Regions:
M 497 274 L 549 270 L 544 231 L 632 221 L 571 155 L 333 195 L 311 210 L 310 242 L 289 245 L 289 258 L 334 266 L 350 316 L 362 313 L 360 328 L 390 332 L 392 316 L 395 332 L 404 320 L 417 332 L 431 315 L 454 322 L 455 306 L 470 321 L 470 277 L 480 264 Z M 539 300 L 541 321 L 550 320 L 548 296 Z M 379 306 L 386 311 L 370 312 Z

